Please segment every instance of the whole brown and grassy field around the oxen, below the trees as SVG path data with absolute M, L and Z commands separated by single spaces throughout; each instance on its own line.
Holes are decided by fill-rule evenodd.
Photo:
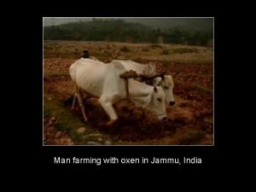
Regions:
M 94 122 L 84 124 L 79 107 L 71 111 L 74 85 L 70 65 L 83 49 L 109 62 L 129 59 L 154 61 L 157 70 L 179 71 L 175 79 L 176 104 L 167 107 L 169 124 L 150 122 L 147 116 L 114 131 L 102 131 Z M 177 44 L 44 41 L 44 144 L 148 144 L 213 143 L 213 50 Z M 93 120 L 105 118 L 102 108 L 92 110 Z M 98 117 L 98 118 L 97 118 Z M 54 120 L 53 120 L 54 119 Z M 126 119 L 127 121 L 127 119 Z

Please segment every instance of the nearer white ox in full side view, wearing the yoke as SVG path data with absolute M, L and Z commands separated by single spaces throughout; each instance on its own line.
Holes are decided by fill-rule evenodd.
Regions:
M 85 121 L 87 118 L 80 90 L 99 97 L 99 102 L 110 119 L 107 125 L 112 125 L 118 119 L 113 103 L 126 98 L 125 80 L 119 78 L 119 74 L 124 72 L 125 67 L 119 61 L 112 61 L 107 65 L 102 61 L 80 59 L 73 63 L 69 73 L 76 84 L 75 95 L 78 96 Z M 131 102 L 137 107 L 153 111 L 158 119 L 166 119 L 165 93 L 161 86 L 150 86 L 134 79 L 128 81 Z

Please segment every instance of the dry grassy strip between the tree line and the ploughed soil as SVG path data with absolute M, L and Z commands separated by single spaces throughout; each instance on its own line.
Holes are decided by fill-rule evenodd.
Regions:
M 44 41 L 44 58 L 79 58 L 90 50 L 101 61 L 129 59 L 166 64 L 212 64 L 212 48 L 179 44 L 128 44 L 112 42 Z

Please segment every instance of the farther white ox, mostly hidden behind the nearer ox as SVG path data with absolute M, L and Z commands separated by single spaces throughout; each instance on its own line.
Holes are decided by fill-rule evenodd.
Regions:
M 127 71 L 134 70 L 137 73 L 144 74 L 144 75 L 153 75 L 156 73 L 156 67 L 152 63 L 143 65 L 130 60 L 113 60 L 113 61 L 121 62 Z M 175 99 L 173 96 L 174 83 L 173 83 L 172 75 L 164 75 L 162 76 L 162 78 L 160 77 L 154 78 L 154 86 L 161 86 L 163 88 L 166 95 L 167 105 L 172 106 L 175 104 Z

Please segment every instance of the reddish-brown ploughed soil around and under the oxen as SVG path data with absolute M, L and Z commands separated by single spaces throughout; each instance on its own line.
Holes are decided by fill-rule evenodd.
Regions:
M 75 60 L 44 60 L 44 68 L 46 68 L 44 91 L 54 94 L 69 110 L 73 99 L 73 84 L 68 76 L 68 67 L 73 61 Z M 212 144 L 212 65 L 158 64 L 158 70 L 163 67 L 166 74 L 179 71 L 174 88 L 176 104 L 173 107 L 167 107 L 168 119 L 166 121 L 160 122 L 154 114 L 142 108 L 132 108 L 132 105 L 128 105 L 128 108 L 115 106 L 119 114 L 118 124 L 102 130 L 100 124 L 107 122 L 108 116 L 95 99 L 89 99 L 84 103 L 90 125 L 108 134 L 113 141 L 132 143 L 182 135 L 183 139 L 177 139 L 176 144 Z M 52 70 L 56 74 L 49 75 L 49 71 L 52 72 Z M 83 120 L 79 107 L 75 108 L 73 113 Z

